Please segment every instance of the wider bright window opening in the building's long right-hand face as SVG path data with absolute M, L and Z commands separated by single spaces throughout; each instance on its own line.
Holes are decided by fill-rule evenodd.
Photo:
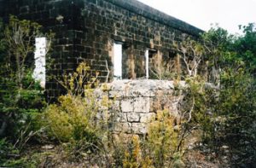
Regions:
M 122 43 L 113 43 L 113 79 L 122 79 L 122 56 L 123 45 Z

